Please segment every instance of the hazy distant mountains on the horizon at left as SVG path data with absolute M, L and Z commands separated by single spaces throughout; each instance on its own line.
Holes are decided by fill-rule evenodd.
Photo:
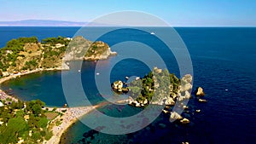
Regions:
M 0 21 L 0 26 L 84 26 L 86 24 L 88 23 L 63 20 Z

